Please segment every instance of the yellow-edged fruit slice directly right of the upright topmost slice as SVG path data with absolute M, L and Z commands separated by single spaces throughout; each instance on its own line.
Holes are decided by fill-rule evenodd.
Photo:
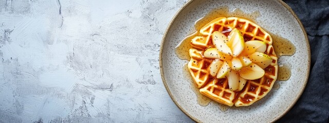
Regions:
M 243 50 L 244 55 L 249 55 L 254 52 L 264 53 L 266 51 L 266 43 L 260 40 L 250 40 L 245 42 L 245 47 Z

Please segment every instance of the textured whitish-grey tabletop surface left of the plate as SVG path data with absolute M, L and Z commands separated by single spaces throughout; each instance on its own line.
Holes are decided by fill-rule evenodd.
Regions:
M 0 122 L 192 122 L 159 73 L 185 3 L 0 0 Z

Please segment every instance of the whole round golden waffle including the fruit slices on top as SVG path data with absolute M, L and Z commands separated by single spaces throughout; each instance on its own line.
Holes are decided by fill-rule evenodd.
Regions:
M 193 37 L 188 69 L 200 93 L 218 103 L 249 106 L 264 97 L 278 76 L 272 38 L 239 17 L 218 17 Z

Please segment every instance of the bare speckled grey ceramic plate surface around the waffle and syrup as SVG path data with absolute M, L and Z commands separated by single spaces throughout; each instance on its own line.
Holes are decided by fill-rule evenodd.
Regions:
M 189 78 L 182 66 L 187 60 L 179 59 L 175 47 L 193 33 L 195 20 L 213 9 L 227 6 L 246 13 L 259 11 L 256 24 L 267 32 L 288 39 L 295 47 L 292 56 L 281 56 L 279 66 L 288 66 L 291 76 L 286 81 L 276 81 L 275 87 L 261 100 L 248 107 L 227 107 L 212 101 L 208 106 L 197 103 Z M 275 40 L 273 40 L 275 42 Z M 309 74 L 310 50 L 305 30 L 295 15 L 282 1 L 189 1 L 172 19 L 163 36 L 160 50 L 160 70 L 163 83 L 182 112 L 197 122 L 271 122 L 284 115 L 302 94 Z M 279 71 L 280 72 L 280 71 Z M 274 89 L 275 88 L 275 89 Z M 225 110 L 223 110 L 225 109 Z

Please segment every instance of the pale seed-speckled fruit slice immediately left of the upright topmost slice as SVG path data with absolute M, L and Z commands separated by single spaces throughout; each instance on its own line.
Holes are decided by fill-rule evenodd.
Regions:
M 214 31 L 212 33 L 212 44 L 217 50 L 224 54 L 232 55 L 232 50 L 225 43 L 227 40 L 227 37 L 221 32 Z

